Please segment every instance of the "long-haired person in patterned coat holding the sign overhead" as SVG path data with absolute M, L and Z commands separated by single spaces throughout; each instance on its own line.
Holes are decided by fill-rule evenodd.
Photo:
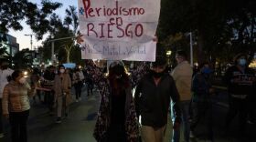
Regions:
M 122 61 L 110 64 L 108 75 L 94 68 L 101 104 L 93 136 L 98 142 L 138 142 L 139 129 L 130 79 Z

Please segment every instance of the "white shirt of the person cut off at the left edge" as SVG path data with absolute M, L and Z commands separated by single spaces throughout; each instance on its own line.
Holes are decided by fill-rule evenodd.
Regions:
M 11 76 L 14 70 L 7 68 L 5 70 L 0 69 L 0 98 L 3 97 L 3 91 L 5 85 L 8 84 L 7 76 Z

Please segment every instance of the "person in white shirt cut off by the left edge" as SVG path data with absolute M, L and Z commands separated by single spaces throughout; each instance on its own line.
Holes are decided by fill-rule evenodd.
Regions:
M 8 62 L 5 59 L 0 59 L 0 106 L 2 106 L 3 90 L 5 85 L 8 83 L 8 77 L 12 75 L 14 71 L 8 68 Z M 3 112 L 2 107 L 0 109 L 0 137 L 4 137 L 3 131 Z

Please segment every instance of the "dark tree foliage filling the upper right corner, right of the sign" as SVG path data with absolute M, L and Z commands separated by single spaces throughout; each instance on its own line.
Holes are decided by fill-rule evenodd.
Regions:
M 162 0 L 159 41 L 193 32 L 199 63 L 231 58 L 240 51 L 253 54 L 255 5 L 254 0 Z

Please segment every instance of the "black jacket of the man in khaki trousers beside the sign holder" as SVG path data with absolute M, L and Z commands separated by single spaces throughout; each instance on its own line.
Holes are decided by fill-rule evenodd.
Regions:
M 174 102 L 176 121 L 180 121 L 179 94 L 172 76 L 165 74 L 155 86 L 151 74 L 145 75 L 136 86 L 135 106 L 137 116 L 142 117 L 142 125 L 164 127 L 167 123 L 170 97 Z

